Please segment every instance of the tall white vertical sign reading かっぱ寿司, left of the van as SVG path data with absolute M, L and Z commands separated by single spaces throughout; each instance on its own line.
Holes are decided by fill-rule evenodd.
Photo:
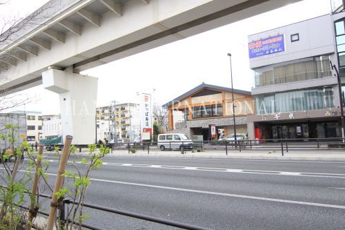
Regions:
M 141 100 L 141 140 L 150 140 L 152 133 L 151 95 L 142 94 Z

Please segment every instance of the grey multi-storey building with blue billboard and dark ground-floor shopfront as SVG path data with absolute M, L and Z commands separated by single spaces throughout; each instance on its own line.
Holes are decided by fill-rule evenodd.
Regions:
M 250 139 L 342 137 L 344 21 L 340 11 L 248 37 L 255 75 Z

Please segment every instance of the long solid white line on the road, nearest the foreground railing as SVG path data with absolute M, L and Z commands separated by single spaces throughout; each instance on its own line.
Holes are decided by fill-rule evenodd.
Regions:
M 3 169 L 3 168 L 0 168 Z M 19 170 L 21 172 L 25 173 L 33 173 L 31 171 L 26 170 Z M 47 173 L 48 175 L 54 175 L 57 176 L 55 173 Z M 326 207 L 326 208 L 333 208 L 333 209 L 345 209 L 345 206 L 337 205 L 337 204 L 322 204 L 322 203 L 314 203 L 314 202 L 304 202 L 304 201 L 297 201 L 297 200 L 282 200 L 282 199 L 275 199 L 275 198 L 263 198 L 259 196 L 253 196 L 253 195 L 239 195 L 239 194 L 233 194 L 233 193 L 217 193 L 213 191 L 202 191 L 202 190 L 195 190 L 195 189 L 181 189 L 176 187 L 168 187 L 168 186 L 159 186 L 159 185 L 152 185 L 152 184 L 139 184 L 139 183 L 132 183 L 132 182 L 122 182 L 117 180 L 103 180 L 103 179 L 97 179 L 97 178 L 90 178 L 90 180 L 98 181 L 98 182 L 108 182 L 113 184 L 126 184 L 126 185 L 132 185 L 132 186 L 143 186 L 148 188 L 155 188 L 155 189 L 167 189 L 172 191 L 184 191 L 189 193 L 200 193 L 200 194 L 208 194 L 208 195 L 221 195 L 221 196 L 227 196 L 232 198 L 244 198 L 244 199 L 251 199 L 251 200 L 264 200 L 264 201 L 271 201 L 271 202 L 281 202 L 281 203 L 288 203 L 288 204 L 303 204 L 303 205 L 310 205 L 315 207 Z

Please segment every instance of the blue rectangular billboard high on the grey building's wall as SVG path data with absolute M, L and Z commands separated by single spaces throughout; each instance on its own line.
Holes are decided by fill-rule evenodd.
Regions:
M 271 55 L 276 52 L 285 51 L 284 35 L 270 37 L 248 44 L 249 58 Z

